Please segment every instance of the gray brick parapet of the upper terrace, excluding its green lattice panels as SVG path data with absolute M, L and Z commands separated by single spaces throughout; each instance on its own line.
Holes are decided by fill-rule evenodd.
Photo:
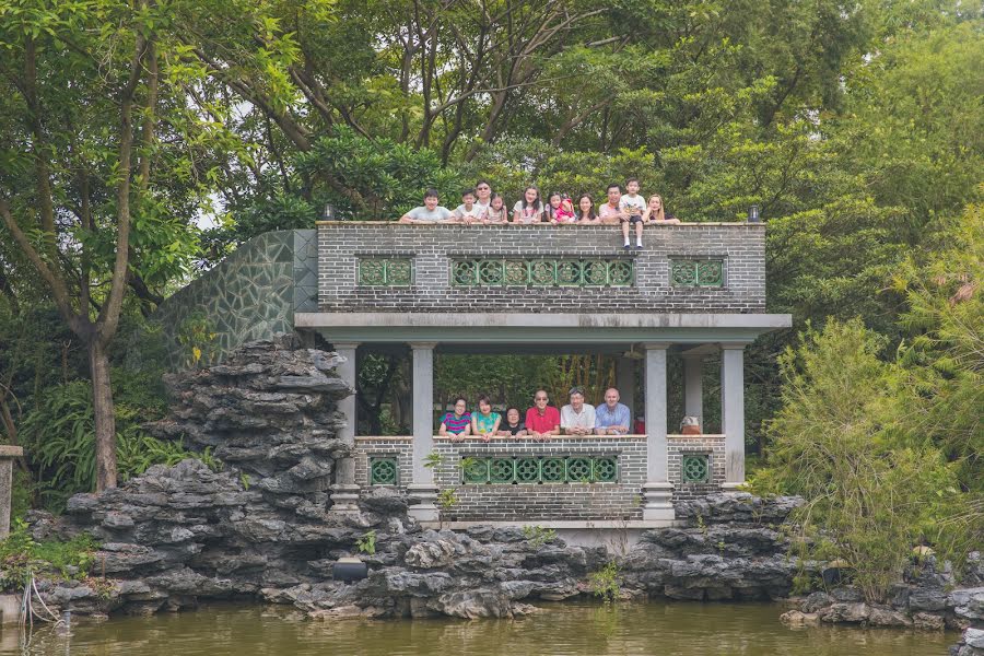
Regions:
M 318 307 L 321 312 L 445 312 L 465 308 L 507 312 L 692 312 L 765 311 L 765 229 L 762 224 L 649 226 L 645 249 L 624 251 L 613 225 L 318 225 Z M 632 258 L 629 288 L 456 288 L 456 257 Z M 360 257 L 413 259 L 409 288 L 356 284 Z M 725 261 L 721 289 L 675 288 L 671 258 Z

